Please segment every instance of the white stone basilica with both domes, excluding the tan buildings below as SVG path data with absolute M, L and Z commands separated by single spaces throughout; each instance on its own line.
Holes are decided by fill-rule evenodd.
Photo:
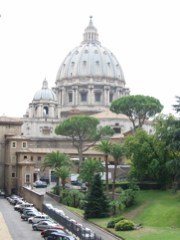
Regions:
M 129 131 L 129 119 L 109 111 L 113 100 L 129 94 L 117 58 L 101 45 L 90 17 L 83 41 L 61 63 L 55 87 L 50 89 L 45 79 L 42 89 L 35 93 L 22 132 L 25 136 L 55 137 L 56 125 L 76 114 L 93 114 L 102 125 L 110 125 L 118 133 Z

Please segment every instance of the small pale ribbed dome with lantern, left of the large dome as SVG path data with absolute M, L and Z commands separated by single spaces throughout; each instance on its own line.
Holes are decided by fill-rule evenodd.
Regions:
M 53 90 L 48 88 L 48 82 L 46 79 L 43 81 L 42 89 L 35 93 L 33 100 L 57 101 L 56 94 L 53 92 Z

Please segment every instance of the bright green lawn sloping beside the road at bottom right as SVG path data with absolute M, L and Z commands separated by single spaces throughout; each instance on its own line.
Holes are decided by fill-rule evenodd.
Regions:
M 82 210 L 76 212 L 83 216 Z M 122 215 L 136 224 L 143 225 L 143 228 L 134 231 L 108 229 L 126 240 L 180 239 L 180 192 L 140 191 L 135 206 Z M 103 228 L 106 228 L 109 220 L 109 218 L 91 219 Z

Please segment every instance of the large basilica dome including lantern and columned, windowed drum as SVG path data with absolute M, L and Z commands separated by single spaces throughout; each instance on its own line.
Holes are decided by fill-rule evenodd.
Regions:
M 62 117 L 71 112 L 98 113 L 108 109 L 114 99 L 129 95 L 122 68 L 115 55 L 98 40 L 92 17 L 83 41 L 62 62 L 54 90 Z

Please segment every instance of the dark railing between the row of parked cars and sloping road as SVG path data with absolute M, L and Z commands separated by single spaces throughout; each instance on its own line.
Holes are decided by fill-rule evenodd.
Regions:
M 97 236 L 95 233 L 86 230 L 85 228 L 79 226 L 78 224 L 69 221 L 66 217 L 60 215 L 59 213 L 49 209 L 43 204 L 42 211 L 54 219 L 57 223 L 64 226 L 69 232 L 76 236 L 77 239 L 81 240 L 103 240 L 101 237 Z

